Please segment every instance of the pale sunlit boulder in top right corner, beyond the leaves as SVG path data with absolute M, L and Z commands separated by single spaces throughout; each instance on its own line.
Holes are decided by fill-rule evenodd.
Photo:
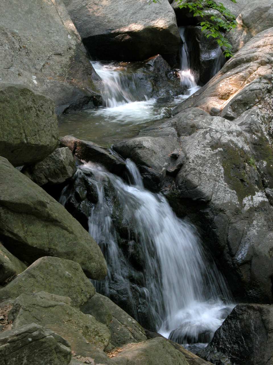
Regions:
M 273 1 L 251 1 L 248 6 L 242 9 L 236 21 L 237 27 L 227 34 L 234 53 L 241 49 L 254 35 L 273 26 Z

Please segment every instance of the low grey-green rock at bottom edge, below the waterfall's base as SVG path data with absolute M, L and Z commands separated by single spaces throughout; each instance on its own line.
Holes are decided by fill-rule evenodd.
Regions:
M 185 356 L 163 337 L 126 345 L 112 358 L 113 364 L 126 365 L 129 361 L 131 365 L 157 365 L 158 361 L 161 365 L 187 365 Z

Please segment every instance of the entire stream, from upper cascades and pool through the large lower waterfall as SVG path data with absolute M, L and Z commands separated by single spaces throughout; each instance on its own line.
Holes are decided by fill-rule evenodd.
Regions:
M 103 81 L 104 106 L 64 116 L 60 134 L 107 145 L 168 116 L 197 91 L 185 28 L 179 31 L 179 77 L 187 88 L 185 95 L 168 101 L 149 99 L 134 73 L 126 72 L 126 64 L 92 62 Z M 218 67 L 215 64 L 215 70 Z M 84 181 L 92 187 L 88 229 L 108 265 L 107 278 L 94 282 L 96 290 L 119 304 L 122 298 L 128 313 L 165 337 L 189 344 L 191 350 L 205 346 L 233 308 L 225 281 L 195 227 L 177 218 L 165 197 L 143 187 L 132 161 L 124 162 L 130 183 L 103 166 L 82 161 L 60 197 L 66 206 L 75 194 L 81 195 Z

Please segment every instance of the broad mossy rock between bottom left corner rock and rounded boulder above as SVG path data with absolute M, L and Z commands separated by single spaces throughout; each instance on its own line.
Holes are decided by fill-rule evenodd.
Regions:
M 35 320 L 37 324 L 60 334 L 70 343 L 71 350 L 81 356 L 88 356 L 85 352 L 88 348 L 91 353 L 94 347 L 103 351 L 108 346 L 111 335 L 104 324 L 97 322 L 93 316 L 83 314 L 80 310 L 63 303 L 63 297 L 52 298 L 51 294 L 47 294 L 21 294 L 17 297 L 8 315 L 13 322 L 13 328 Z

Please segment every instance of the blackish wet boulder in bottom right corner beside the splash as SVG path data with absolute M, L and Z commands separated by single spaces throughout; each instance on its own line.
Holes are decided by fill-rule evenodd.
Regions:
M 238 304 L 199 356 L 217 365 L 272 364 L 273 307 Z

